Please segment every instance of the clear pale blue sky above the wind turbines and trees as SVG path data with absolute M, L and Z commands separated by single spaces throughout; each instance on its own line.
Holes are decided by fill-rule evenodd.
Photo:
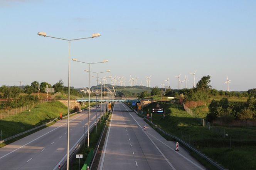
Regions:
M 67 85 L 68 43 L 59 38 L 101 37 L 71 42 L 71 58 L 91 71 L 126 78 L 152 75 L 151 87 L 187 75 L 188 87 L 211 75 L 217 90 L 256 88 L 256 1 L 67 1 L 0 0 L 0 86 L 33 81 Z M 88 65 L 71 61 L 71 86 L 88 87 Z M 101 75 L 101 76 L 105 76 Z M 95 79 L 92 85 L 95 85 Z M 165 82 L 165 84 L 167 84 Z M 185 83 L 183 84 L 183 87 Z

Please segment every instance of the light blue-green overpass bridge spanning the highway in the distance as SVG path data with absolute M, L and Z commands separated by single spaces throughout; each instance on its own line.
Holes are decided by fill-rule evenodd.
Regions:
M 152 98 L 98 98 L 97 102 L 140 102 L 152 100 Z M 89 98 L 76 98 L 76 101 L 89 102 Z M 96 98 L 90 98 L 90 102 L 96 102 Z

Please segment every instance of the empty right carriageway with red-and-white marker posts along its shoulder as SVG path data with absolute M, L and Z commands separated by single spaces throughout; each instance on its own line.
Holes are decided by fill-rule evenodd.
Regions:
M 205 169 L 184 148 L 175 151 L 175 145 L 125 104 L 115 103 L 98 170 Z

